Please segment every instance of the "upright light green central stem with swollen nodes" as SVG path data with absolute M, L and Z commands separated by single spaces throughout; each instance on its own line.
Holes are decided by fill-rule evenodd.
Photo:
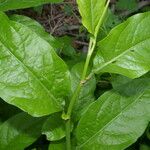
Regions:
M 65 117 L 64 117 L 64 119 L 66 119 L 66 148 L 67 148 L 67 150 L 71 150 L 71 136 L 70 136 L 71 121 L 70 121 L 70 119 L 71 119 L 72 110 L 73 110 L 74 104 L 76 102 L 76 99 L 79 96 L 80 90 L 81 90 L 82 86 L 84 85 L 84 83 L 86 82 L 87 70 L 88 70 L 88 66 L 89 66 L 90 60 L 91 60 L 91 56 L 92 56 L 93 51 L 94 51 L 95 46 L 96 46 L 96 40 L 97 40 L 98 31 L 99 31 L 99 28 L 100 28 L 100 26 L 102 24 L 104 16 L 106 14 L 109 2 L 110 2 L 110 0 L 107 1 L 107 4 L 105 6 L 105 9 L 104 9 L 104 12 L 102 14 L 102 17 L 101 17 L 101 19 L 100 19 L 100 21 L 98 23 L 98 28 L 95 31 L 94 37 L 90 38 L 88 54 L 87 54 L 87 57 L 86 57 L 83 73 L 82 73 L 82 76 L 81 76 L 81 81 L 78 84 L 78 86 L 77 86 L 77 88 L 76 88 L 76 90 L 75 90 L 75 92 L 74 92 L 74 94 L 73 94 L 73 96 L 72 96 L 72 98 L 70 100 L 70 104 L 69 104 L 69 107 L 68 107 L 68 110 L 67 110 L 67 114 L 65 114 Z

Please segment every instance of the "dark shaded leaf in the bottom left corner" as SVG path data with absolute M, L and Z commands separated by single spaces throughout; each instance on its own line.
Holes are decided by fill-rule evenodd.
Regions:
M 33 118 L 20 113 L 0 126 L 0 149 L 23 150 L 40 135 L 45 118 Z

